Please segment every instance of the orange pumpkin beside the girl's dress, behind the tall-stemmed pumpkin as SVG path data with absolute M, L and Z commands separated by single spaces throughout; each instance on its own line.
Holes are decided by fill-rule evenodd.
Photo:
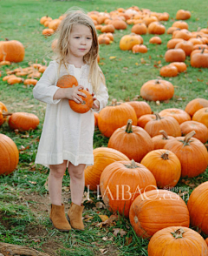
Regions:
M 116 129 L 127 125 L 128 119 L 132 119 L 133 125 L 137 125 L 136 112 L 131 105 L 106 106 L 99 113 L 98 128 L 103 135 L 109 138 Z

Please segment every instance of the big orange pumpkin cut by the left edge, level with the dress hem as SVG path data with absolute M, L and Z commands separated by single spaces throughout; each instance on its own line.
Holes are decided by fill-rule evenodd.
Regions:
M 8 136 L 0 134 L 0 175 L 13 172 L 19 162 L 19 152 L 15 142 Z

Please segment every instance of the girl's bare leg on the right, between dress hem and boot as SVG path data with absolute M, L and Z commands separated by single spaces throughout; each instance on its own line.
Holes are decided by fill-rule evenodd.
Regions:
M 72 165 L 68 163 L 68 173 L 70 175 L 71 200 L 75 205 L 81 205 L 84 193 L 84 169 L 85 165 Z

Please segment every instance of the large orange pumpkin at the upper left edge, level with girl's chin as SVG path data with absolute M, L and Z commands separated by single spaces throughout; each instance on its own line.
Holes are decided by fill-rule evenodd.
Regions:
M 21 62 L 24 58 L 23 44 L 16 40 L 0 41 L 0 61 Z

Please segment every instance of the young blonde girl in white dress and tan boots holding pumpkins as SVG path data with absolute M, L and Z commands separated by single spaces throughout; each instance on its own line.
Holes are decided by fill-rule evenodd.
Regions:
M 105 78 L 97 64 L 99 44 L 94 23 L 81 10 L 68 11 L 57 31 L 55 60 L 34 87 L 34 98 L 47 103 L 36 164 L 49 166 L 49 219 L 60 231 L 71 227 L 84 229 L 81 199 L 84 192 L 84 169 L 94 164 L 94 111 L 107 104 Z M 59 88 L 57 80 L 72 75 L 74 88 Z M 84 114 L 70 109 L 68 99 L 81 103 L 87 89 L 94 97 L 93 110 Z M 62 204 L 62 178 L 68 167 L 72 204 L 67 214 Z M 70 223 L 70 224 L 69 224 Z

